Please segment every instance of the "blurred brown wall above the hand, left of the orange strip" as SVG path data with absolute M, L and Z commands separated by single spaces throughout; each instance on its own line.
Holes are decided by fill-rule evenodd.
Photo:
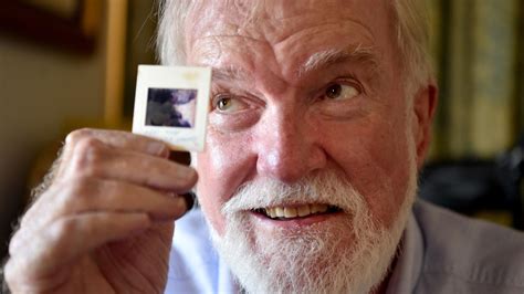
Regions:
M 3 13 L 14 13 L 1 6 Z M 105 14 L 99 22 L 96 45 L 88 54 L 35 42 L 30 33 L 27 38 L 23 32 L 0 31 L 0 253 L 25 204 L 30 171 L 42 150 L 63 135 L 67 119 L 103 117 Z M 44 30 L 45 23 L 34 24 L 35 33 Z

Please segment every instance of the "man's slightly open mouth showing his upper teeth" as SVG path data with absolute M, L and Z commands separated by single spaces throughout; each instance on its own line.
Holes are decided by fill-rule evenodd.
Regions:
M 342 209 L 328 204 L 301 204 L 290 207 L 271 207 L 254 209 L 253 212 L 265 216 L 273 220 L 289 220 L 296 218 L 308 218 L 317 214 L 335 213 Z

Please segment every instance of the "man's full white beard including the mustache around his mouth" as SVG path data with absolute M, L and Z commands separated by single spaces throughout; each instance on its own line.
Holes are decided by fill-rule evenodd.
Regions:
M 387 275 L 411 210 L 417 186 L 411 166 L 405 201 L 389 229 L 373 219 L 360 193 L 327 172 L 294 185 L 245 183 L 222 208 L 223 238 L 208 223 L 212 241 L 250 293 L 369 293 Z M 344 217 L 268 234 L 245 212 L 291 201 L 336 206 Z

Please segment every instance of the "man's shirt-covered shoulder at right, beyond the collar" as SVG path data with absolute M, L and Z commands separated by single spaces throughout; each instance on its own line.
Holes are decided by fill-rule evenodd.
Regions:
M 425 201 L 415 204 L 413 213 L 425 248 L 422 286 L 434 288 L 431 284 L 438 283 L 452 293 L 524 293 L 524 233 Z

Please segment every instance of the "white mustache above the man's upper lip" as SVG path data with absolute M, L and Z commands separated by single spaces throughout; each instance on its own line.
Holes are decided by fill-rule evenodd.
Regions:
M 333 171 L 312 175 L 298 182 L 284 183 L 262 178 L 245 182 L 222 207 L 224 216 L 277 206 L 323 203 L 348 213 L 355 211 L 352 198 L 363 198 L 353 186 Z

